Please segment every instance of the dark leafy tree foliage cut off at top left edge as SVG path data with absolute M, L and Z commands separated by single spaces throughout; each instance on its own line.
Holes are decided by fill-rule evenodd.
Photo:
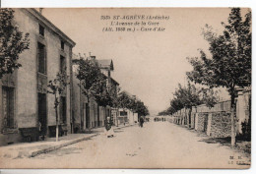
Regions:
M 22 66 L 17 60 L 30 46 L 29 33 L 23 36 L 19 27 L 13 25 L 14 13 L 12 9 L 0 9 L 0 79 Z

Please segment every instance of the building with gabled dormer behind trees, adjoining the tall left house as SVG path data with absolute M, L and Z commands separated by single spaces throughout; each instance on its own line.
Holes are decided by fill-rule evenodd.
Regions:
M 113 108 L 110 106 L 100 106 L 96 103 L 96 100 L 90 98 L 90 100 L 82 93 L 79 84 L 81 83 L 77 77 L 77 63 L 76 61 L 79 59 L 85 59 L 85 57 L 78 56 L 73 54 L 73 122 L 74 122 L 74 132 L 85 132 L 87 130 L 91 130 L 97 127 L 104 126 L 106 117 L 115 117 Z M 101 73 L 105 76 L 107 84 L 106 86 L 110 86 L 112 89 L 117 91 L 119 84 L 111 78 L 111 71 L 113 71 L 113 62 L 112 60 L 96 60 L 96 56 L 90 56 L 88 59 L 92 61 L 96 61 L 100 68 Z M 113 118 L 114 117 L 114 118 Z

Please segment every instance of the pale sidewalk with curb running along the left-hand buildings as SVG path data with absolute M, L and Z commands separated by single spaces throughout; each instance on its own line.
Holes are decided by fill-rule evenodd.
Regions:
M 128 126 L 132 125 L 121 125 L 119 127 L 114 126 L 113 129 L 117 130 Z M 34 157 L 38 154 L 56 150 L 63 146 L 90 140 L 103 132 L 104 127 L 100 127 L 93 129 L 91 134 L 69 134 L 68 136 L 59 137 L 58 142 L 55 142 L 56 138 L 47 138 L 45 141 L 0 146 L 0 158 Z

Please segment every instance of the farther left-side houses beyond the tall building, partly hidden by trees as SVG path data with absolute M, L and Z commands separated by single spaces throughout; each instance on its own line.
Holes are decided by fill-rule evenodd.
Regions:
M 83 94 L 81 87 L 78 86 L 81 82 L 76 78 L 78 66 L 76 62 L 79 59 L 90 59 L 91 61 L 95 61 L 100 68 L 100 72 L 105 76 L 107 85 L 115 92 L 117 92 L 119 87 L 119 84 L 111 77 L 111 72 L 114 70 L 112 60 L 97 60 L 96 56 L 83 57 L 81 55 L 78 56 L 73 54 L 72 115 L 74 116 L 74 132 L 90 131 L 91 129 L 102 127 L 105 124 L 106 117 L 110 117 L 113 124 L 116 126 L 120 124 L 133 125 L 137 123 L 138 113 L 134 113 L 129 109 L 100 106 L 96 103 L 94 98 L 87 98 L 87 96 Z M 129 94 L 127 91 L 124 92 Z

